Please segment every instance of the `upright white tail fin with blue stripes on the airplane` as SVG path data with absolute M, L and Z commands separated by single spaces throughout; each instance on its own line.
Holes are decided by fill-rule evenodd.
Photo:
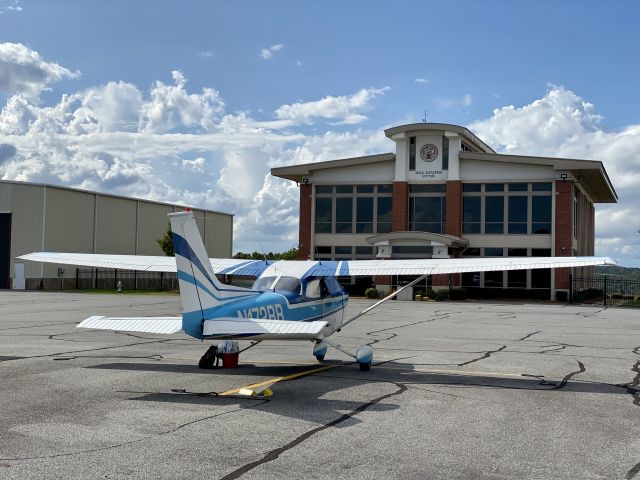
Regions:
M 212 309 L 259 292 L 218 281 L 192 212 L 170 213 L 169 220 L 182 299 L 182 328 L 202 338 L 204 321 Z

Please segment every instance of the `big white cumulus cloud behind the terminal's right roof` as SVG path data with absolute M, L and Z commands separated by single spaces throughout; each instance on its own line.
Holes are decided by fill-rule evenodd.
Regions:
M 619 199 L 596 205 L 596 254 L 640 265 L 640 125 L 609 131 L 593 104 L 551 86 L 540 99 L 495 109 L 468 127 L 500 152 L 602 161 Z

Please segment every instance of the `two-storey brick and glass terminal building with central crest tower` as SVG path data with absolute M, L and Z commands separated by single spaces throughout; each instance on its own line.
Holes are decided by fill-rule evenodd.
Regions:
M 302 259 L 593 255 L 594 204 L 617 201 L 600 161 L 498 154 L 449 124 L 402 125 L 385 135 L 395 153 L 271 170 L 300 186 Z M 560 298 L 570 273 L 434 275 L 424 287 Z M 400 282 L 374 280 L 379 290 Z

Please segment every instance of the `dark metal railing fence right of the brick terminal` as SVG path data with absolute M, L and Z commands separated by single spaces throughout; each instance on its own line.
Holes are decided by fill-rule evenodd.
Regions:
M 569 303 L 640 308 L 640 279 L 618 275 L 570 278 Z

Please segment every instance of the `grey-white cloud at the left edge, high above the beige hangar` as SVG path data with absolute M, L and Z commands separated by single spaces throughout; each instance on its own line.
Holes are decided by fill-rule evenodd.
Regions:
M 0 91 L 35 97 L 50 83 L 78 75 L 55 62 L 46 62 L 26 45 L 0 43 Z

